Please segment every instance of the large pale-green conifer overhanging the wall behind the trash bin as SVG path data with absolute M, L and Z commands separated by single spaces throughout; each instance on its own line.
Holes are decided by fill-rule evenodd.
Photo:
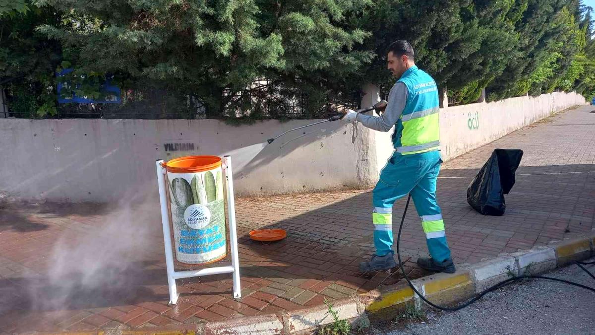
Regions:
M 232 117 L 252 103 L 240 92 L 256 79 L 277 88 L 267 94 L 283 100 L 301 92 L 314 108 L 371 58 L 352 51 L 368 34 L 343 23 L 365 0 L 43 4 L 74 13 L 77 24 L 43 24 L 39 31 L 76 51 L 65 60 L 80 73 L 112 73 L 123 88 L 151 86 L 180 101 L 192 94 L 211 113 Z

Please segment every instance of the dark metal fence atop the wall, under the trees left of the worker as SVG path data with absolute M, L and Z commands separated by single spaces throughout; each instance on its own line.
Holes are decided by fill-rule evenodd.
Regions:
M 299 85 L 285 86 L 258 79 L 241 91 L 223 91 L 221 106 L 209 108 L 205 98 L 166 89 L 139 88 L 121 91 L 119 104 L 58 104 L 55 115 L 37 116 L 31 108 L 4 108 L 4 117 L 84 119 L 318 119 L 359 108 L 362 93 L 349 94 L 321 88 L 324 101 L 312 101 Z M 11 98 L 7 102 L 10 107 Z M 6 104 L 5 104 L 6 105 Z

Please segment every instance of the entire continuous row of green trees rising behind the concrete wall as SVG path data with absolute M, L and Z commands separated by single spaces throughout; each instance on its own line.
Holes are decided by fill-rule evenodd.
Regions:
M 491 101 L 591 96 L 591 12 L 578 0 L 0 0 L 0 85 L 30 117 L 80 108 L 56 106 L 59 84 L 101 97 L 108 75 L 126 97 L 114 117 L 194 117 L 202 105 L 281 119 L 295 104 L 320 117 L 355 107 L 364 82 L 389 88 L 386 47 L 407 39 L 451 101 L 484 88 Z

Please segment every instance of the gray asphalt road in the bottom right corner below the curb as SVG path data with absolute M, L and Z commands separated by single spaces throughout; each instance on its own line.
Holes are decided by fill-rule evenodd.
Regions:
M 594 259 L 591 259 L 593 261 Z M 595 274 L 595 265 L 587 265 Z M 577 265 L 544 274 L 595 288 Z M 456 312 L 425 312 L 422 321 L 373 324 L 368 334 L 595 334 L 595 293 L 548 280 L 528 280 L 487 294 Z

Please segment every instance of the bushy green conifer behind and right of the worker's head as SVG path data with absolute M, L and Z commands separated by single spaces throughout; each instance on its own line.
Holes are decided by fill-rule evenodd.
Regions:
M 392 85 L 384 70 L 386 46 L 407 39 L 419 66 L 450 89 L 452 100 L 475 101 L 515 57 L 515 24 L 527 6 L 527 0 L 378 1 L 360 20 L 373 32 L 364 48 L 380 55 L 364 70 L 366 79 Z

